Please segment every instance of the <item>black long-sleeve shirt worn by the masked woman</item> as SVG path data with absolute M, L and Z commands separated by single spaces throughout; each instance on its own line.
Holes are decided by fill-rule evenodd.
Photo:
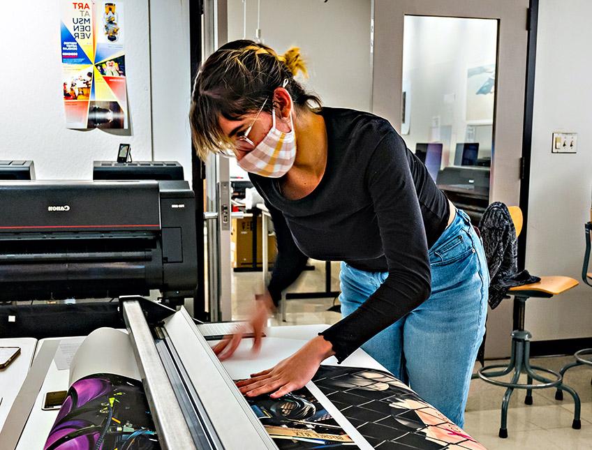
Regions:
M 327 167 L 312 193 L 281 195 L 277 179 L 250 174 L 278 237 L 269 292 L 274 301 L 306 258 L 388 271 L 354 313 L 321 333 L 339 362 L 425 301 L 431 292 L 428 248 L 446 227 L 445 195 L 390 123 L 367 112 L 323 107 Z

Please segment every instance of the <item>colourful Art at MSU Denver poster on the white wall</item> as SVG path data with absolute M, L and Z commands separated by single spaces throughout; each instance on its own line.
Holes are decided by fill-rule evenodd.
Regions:
M 124 1 L 62 0 L 68 128 L 128 128 Z

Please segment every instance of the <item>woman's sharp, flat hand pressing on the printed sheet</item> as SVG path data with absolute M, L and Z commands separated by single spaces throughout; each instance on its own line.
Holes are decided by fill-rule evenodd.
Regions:
M 279 398 L 304 387 L 312 380 L 320 363 L 333 354 L 331 343 L 323 336 L 317 336 L 291 357 L 280 361 L 274 368 L 253 373 L 249 380 L 237 382 L 237 387 L 247 397 L 275 391 L 271 397 Z

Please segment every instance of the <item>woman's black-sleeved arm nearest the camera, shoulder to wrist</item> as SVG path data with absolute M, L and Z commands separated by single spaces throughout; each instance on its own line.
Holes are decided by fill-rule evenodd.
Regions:
M 431 293 L 427 239 L 404 141 L 390 128 L 365 173 L 378 218 L 388 276 L 351 315 L 321 333 L 339 362 L 397 322 Z

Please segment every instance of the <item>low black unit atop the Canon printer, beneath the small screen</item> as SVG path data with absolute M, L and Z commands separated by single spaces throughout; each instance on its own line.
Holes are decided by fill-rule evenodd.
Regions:
M 94 180 L 182 180 L 183 166 L 177 161 L 116 163 L 94 161 Z

